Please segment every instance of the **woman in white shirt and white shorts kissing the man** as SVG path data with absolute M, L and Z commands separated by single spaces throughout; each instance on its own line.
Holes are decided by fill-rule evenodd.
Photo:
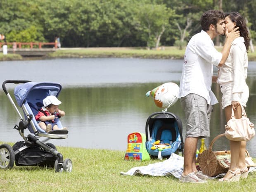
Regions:
M 240 37 L 233 40 L 228 59 L 219 68 L 217 83 L 220 85 L 222 107 L 225 109 L 226 121 L 231 119 L 231 108 L 234 109 L 235 118 L 240 119 L 242 109 L 240 104 L 246 107 L 249 97 L 249 88 L 246 84 L 249 49 L 249 37 L 246 23 L 238 12 L 225 14 L 225 28 L 232 31 L 239 27 Z M 230 168 L 220 181 L 233 182 L 240 178 L 247 178 L 249 170 L 245 164 L 245 141 L 231 141 Z

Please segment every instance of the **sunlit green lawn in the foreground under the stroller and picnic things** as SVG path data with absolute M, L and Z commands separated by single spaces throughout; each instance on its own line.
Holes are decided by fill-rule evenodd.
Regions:
M 2 142 L 0 142 L 0 145 Z M 73 163 L 71 173 L 55 173 L 52 168 L 15 166 L 0 169 L 0 192 L 249 192 L 255 191 L 256 173 L 238 183 L 180 183 L 173 176 L 124 176 L 135 166 L 159 160 L 124 161 L 125 152 L 105 149 L 57 147 Z M 255 159 L 254 159 L 255 160 Z

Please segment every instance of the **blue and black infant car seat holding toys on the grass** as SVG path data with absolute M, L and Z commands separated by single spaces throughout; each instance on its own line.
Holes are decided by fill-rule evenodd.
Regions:
M 168 158 L 171 153 L 183 156 L 182 122 L 170 112 L 151 114 L 146 122 L 146 149 L 150 156 Z

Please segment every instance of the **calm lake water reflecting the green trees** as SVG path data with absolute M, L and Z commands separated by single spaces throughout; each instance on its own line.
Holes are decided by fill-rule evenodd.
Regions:
M 69 128 L 65 140 L 51 140 L 59 146 L 126 151 L 127 136 L 132 132 L 145 133 L 145 123 L 150 114 L 161 111 L 155 106 L 147 91 L 166 82 L 179 85 L 182 60 L 134 59 L 134 58 L 81 58 L 47 59 L 30 61 L 0 62 L 0 83 L 7 79 L 29 81 L 51 81 L 62 84 L 59 95 L 60 109 L 66 112 L 61 121 Z M 216 73 L 216 69 L 214 69 Z M 250 97 L 247 115 L 256 122 L 256 62 L 249 62 L 247 84 Z M 12 94 L 16 85 L 7 84 Z M 218 100 L 221 92 L 217 84 L 212 86 Z M 176 102 L 168 111 L 179 116 L 183 122 L 185 138 L 185 117 Z M 17 142 L 21 136 L 14 130 L 19 118 L 5 93 L 0 90 L 0 141 Z M 213 106 L 211 140 L 224 133 L 224 111 L 220 104 Z M 26 132 L 26 134 L 28 134 Z M 247 143 L 251 156 L 256 156 L 256 139 Z M 225 137 L 217 140 L 214 150 L 229 149 Z

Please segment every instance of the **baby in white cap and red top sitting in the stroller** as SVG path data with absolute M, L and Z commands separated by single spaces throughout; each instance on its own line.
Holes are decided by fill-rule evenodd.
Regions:
M 65 115 L 65 112 L 59 109 L 60 100 L 54 95 L 49 95 L 43 99 L 43 107 L 39 109 L 36 115 L 36 121 L 40 128 L 49 133 L 51 130 L 67 130 L 66 127 L 59 128 L 57 122 L 59 118 Z

